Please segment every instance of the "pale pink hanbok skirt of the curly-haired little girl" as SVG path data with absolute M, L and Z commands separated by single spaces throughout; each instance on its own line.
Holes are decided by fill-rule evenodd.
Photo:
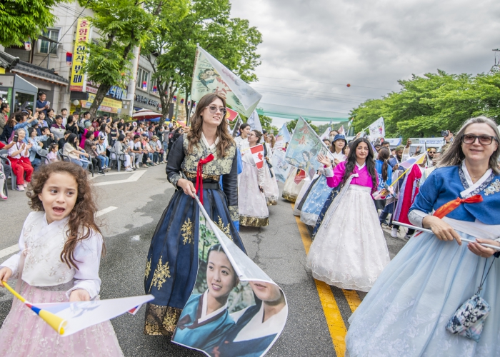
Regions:
M 33 303 L 68 302 L 66 291 L 74 283 L 37 288 L 22 283 L 21 296 Z M 57 291 L 54 291 L 57 289 Z M 36 313 L 14 298 L 11 311 L 0 329 L 0 356 L 124 356 L 111 322 L 90 326 L 69 336 L 61 336 Z

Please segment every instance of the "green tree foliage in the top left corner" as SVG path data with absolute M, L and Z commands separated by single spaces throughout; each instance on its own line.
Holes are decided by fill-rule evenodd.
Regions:
M 0 1 L 0 44 L 22 46 L 53 26 L 56 16 L 52 9 L 67 0 L 7 0 Z

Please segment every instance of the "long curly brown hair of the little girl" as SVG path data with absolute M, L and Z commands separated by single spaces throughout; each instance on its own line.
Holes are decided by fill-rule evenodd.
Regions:
M 26 193 L 31 200 L 29 206 L 34 211 L 44 211 L 44 205 L 41 203 L 39 194 L 51 174 L 55 173 L 73 176 L 78 185 L 76 203 L 71 213 L 69 213 L 69 229 L 66 231 L 67 240 L 61 252 L 61 261 L 66 263 L 69 268 L 74 266 L 78 269 L 74 262 L 74 250 L 76 245 L 80 241 L 89 238 L 92 232 L 101 234 L 101 229 L 94 218 L 97 212 L 97 206 L 94 202 L 94 190 L 90 185 L 86 172 L 76 164 L 66 161 L 56 161 L 50 165 L 43 165 L 33 175 L 29 191 Z M 102 246 L 104 254 L 104 241 Z

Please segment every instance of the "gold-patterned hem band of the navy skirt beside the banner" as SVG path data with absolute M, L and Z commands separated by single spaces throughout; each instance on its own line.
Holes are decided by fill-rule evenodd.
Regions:
M 181 316 L 181 308 L 146 304 L 146 319 L 144 333 L 146 335 L 162 335 L 171 337 Z

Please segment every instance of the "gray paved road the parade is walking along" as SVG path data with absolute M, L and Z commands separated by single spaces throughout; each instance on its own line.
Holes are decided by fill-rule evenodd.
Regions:
M 94 178 L 99 209 L 106 212 L 99 217 L 106 242 L 100 271 L 101 298 L 144 293 L 151 236 L 174 193 L 164 169 L 160 165 L 134 174 L 111 171 Z M 13 253 L 6 249 L 17 243 L 29 213 L 25 194 L 9 193 L 9 200 L 0 202 L 1 261 Z M 364 293 L 342 291 L 311 278 L 306 269 L 309 233 L 293 216 L 291 203 L 280 200 L 278 206 L 271 207 L 269 221 L 268 227 L 241 228 L 249 256 L 281 286 L 289 302 L 286 327 L 267 356 L 343 356 L 347 319 Z M 404 246 L 401 238 L 391 238 L 388 233 L 386 241 L 391 258 Z M 0 321 L 9 313 L 11 300 L 10 294 L 0 288 Z M 204 356 L 161 336 L 144 335 L 144 308 L 136 316 L 120 316 L 112 323 L 126 356 Z

